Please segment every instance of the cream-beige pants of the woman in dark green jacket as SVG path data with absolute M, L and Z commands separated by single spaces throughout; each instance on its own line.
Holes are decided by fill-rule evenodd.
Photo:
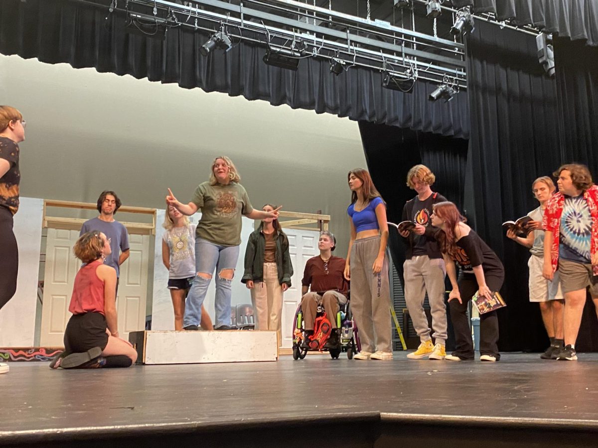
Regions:
M 282 286 L 278 283 L 276 263 L 264 263 L 264 281 L 255 282 L 251 289 L 256 330 L 276 332 L 280 346 L 280 315 L 282 314 Z

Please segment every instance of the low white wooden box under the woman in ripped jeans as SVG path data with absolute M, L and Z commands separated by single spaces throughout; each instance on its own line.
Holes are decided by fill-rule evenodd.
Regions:
M 243 363 L 276 361 L 276 332 L 131 332 L 139 364 Z

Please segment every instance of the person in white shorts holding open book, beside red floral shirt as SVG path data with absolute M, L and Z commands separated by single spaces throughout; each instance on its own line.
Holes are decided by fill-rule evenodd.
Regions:
M 529 300 L 538 302 L 544 327 L 550 338 L 550 346 L 540 355 L 543 360 L 556 360 L 557 354 L 563 349 L 563 293 L 560 288 L 559 272 L 553 280 L 547 280 L 542 275 L 544 268 L 544 230 L 542 219 L 546 204 L 556 188 L 553 180 L 548 176 L 538 177 L 532 183 L 532 192 L 540 203 L 538 208 L 530 211 L 527 216 L 532 220 L 525 226 L 526 237 L 517 236 L 517 231 L 511 228 L 507 237 L 529 248 Z

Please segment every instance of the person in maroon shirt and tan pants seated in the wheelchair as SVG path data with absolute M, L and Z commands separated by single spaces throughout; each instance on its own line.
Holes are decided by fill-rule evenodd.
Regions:
M 301 294 L 303 294 L 301 311 L 303 312 L 305 335 L 301 342 L 301 348 L 309 348 L 309 336 L 313 335 L 318 305 L 324 308 L 332 327 L 332 332 L 324 348 L 340 348 L 336 316 L 339 304 L 347 303 L 349 282 L 343 275 L 345 259 L 332 256 L 335 246 L 334 235 L 328 231 L 321 232 L 318 240 L 320 254 L 307 260 L 305 265 L 301 280 Z

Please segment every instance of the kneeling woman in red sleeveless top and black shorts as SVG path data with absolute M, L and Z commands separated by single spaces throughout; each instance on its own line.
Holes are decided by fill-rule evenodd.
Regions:
M 129 367 L 137 360 L 133 346 L 118 337 L 116 271 L 104 264 L 111 253 L 106 235 L 91 231 L 73 248 L 84 265 L 75 277 L 65 330 L 65 351 L 50 363 L 51 369 Z

